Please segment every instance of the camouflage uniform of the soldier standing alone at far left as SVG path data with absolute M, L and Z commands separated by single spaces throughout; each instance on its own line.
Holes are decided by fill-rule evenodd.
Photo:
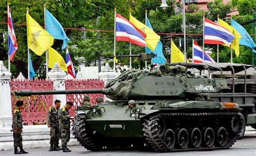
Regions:
M 12 129 L 16 129 L 17 133 L 14 132 L 14 148 L 22 147 L 22 115 L 21 111 L 14 110 L 14 118 L 12 120 Z

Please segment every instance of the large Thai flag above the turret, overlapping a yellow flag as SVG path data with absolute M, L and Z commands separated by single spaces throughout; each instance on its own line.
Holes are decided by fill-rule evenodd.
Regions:
M 123 16 L 116 14 L 116 40 L 117 41 L 128 41 L 134 45 L 146 47 L 147 43 L 142 34 L 135 26 L 131 24 L 129 20 Z

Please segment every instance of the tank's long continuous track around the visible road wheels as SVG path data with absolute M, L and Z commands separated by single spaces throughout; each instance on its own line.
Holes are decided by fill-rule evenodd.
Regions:
M 227 127 L 227 134 L 228 134 L 228 139 L 227 143 L 223 147 L 203 147 L 200 146 L 198 148 L 191 148 L 191 147 L 186 147 L 186 148 L 176 148 L 174 146 L 173 148 L 169 148 L 166 146 L 165 141 L 163 140 L 163 137 L 159 136 L 158 133 L 158 122 L 159 118 L 163 118 L 165 121 L 170 120 L 171 118 L 181 118 L 181 120 L 195 120 L 198 117 L 198 119 L 213 119 L 217 117 L 222 117 L 222 118 L 236 118 L 238 119 L 237 123 L 238 125 L 234 125 L 232 120 L 230 120 L 229 127 Z M 151 116 L 147 119 L 144 119 L 144 137 L 146 140 L 147 146 L 150 146 L 154 149 L 154 151 L 158 152 L 181 152 L 181 151 L 207 151 L 207 150 L 221 150 L 221 149 L 227 149 L 230 148 L 235 141 L 238 139 L 238 133 L 242 130 L 242 114 L 240 113 L 235 113 L 235 112 L 218 112 L 218 113 L 194 113 L 194 114 L 185 114 L 185 113 L 172 113 L 172 114 L 158 114 L 156 116 Z M 216 124 L 217 128 L 219 125 Z M 182 127 L 182 126 L 181 126 Z M 214 132 L 215 133 L 215 132 Z M 190 136 L 189 136 L 190 137 Z

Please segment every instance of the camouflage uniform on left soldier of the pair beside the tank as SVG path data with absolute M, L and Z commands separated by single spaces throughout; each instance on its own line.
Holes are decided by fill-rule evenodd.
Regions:
M 59 121 L 58 121 L 58 110 L 54 107 L 50 107 L 48 111 L 48 125 L 51 126 L 50 130 L 50 144 L 59 144 Z

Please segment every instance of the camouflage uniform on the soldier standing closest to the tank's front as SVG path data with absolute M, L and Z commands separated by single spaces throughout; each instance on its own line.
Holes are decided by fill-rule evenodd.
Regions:
M 70 117 L 69 111 L 62 107 L 58 111 L 59 117 L 59 130 L 60 139 L 62 140 L 62 146 L 66 146 L 70 139 Z

